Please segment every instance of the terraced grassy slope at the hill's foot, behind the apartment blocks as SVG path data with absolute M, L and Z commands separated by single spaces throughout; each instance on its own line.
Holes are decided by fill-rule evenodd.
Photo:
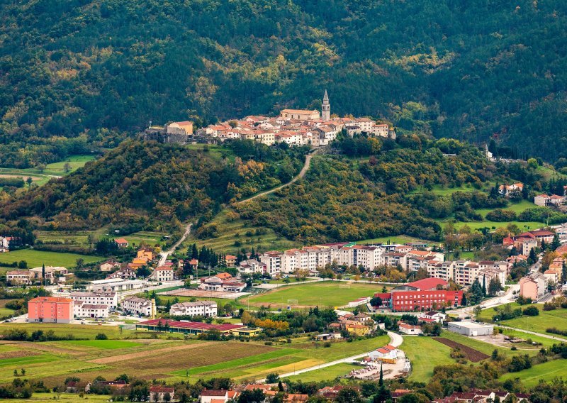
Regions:
M 211 221 L 217 225 L 218 236 L 214 238 L 198 239 L 191 233 L 187 240 L 181 245 L 180 250 L 186 250 L 190 245 L 196 243 L 198 248 L 205 245 L 213 248 L 218 253 L 236 254 L 242 248 L 256 251 L 266 250 L 286 250 L 301 247 L 300 243 L 288 241 L 286 238 L 277 235 L 274 230 L 267 227 L 247 226 L 247 222 L 241 219 L 229 221 L 228 212 L 230 209 L 220 211 Z

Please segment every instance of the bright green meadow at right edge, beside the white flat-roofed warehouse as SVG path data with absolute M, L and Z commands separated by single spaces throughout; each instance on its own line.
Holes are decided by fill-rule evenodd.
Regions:
M 512 309 L 520 307 L 520 305 L 515 302 L 513 302 L 511 305 Z M 527 331 L 549 334 L 550 336 L 565 338 L 567 340 L 566 336 L 546 332 L 546 329 L 551 327 L 556 327 L 557 329 L 567 329 L 567 309 L 544 311 L 542 304 L 536 304 L 535 306 L 539 308 L 538 316 L 520 316 L 519 318 L 502 321 L 502 324 L 504 326 L 511 326 Z M 524 309 L 525 307 L 527 306 L 524 305 L 522 309 Z M 483 320 L 491 320 L 495 314 L 496 312 L 493 308 L 483 309 L 480 317 Z

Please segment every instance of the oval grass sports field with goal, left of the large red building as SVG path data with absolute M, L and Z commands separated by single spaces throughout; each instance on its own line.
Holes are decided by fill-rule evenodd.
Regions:
M 380 292 L 382 285 L 355 282 L 314 282 L 301 285 L 280 287 L 274 291 L 249 298 L 250 304 L 271 304 L 275 307 L 287 307 L 289 300 L 297 299 L 299 307 L 342 307 L 360 297 L 371 297 Z M 240 300 L 247 304 L 248 298 Z

